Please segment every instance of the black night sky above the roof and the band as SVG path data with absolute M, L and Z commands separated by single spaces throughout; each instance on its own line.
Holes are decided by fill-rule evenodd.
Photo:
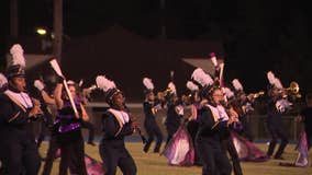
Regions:
M 9 0 L 1 0 L 1 46 L 9 36 Z M 52 28 L 52 0 L 20 0 L 19 8 L 21 35 L 35 35 L 40 25 Z M 170 39 L 222 39 L 229 80 L 239 78 L 252 90 L 264 84 L 258 81 L 266 81 L 268 70 L 285 86 L 297 80 L 303 91 L 312 90 L 309 16 L 308 4 L 282 0 L 167 0 L 165 11 L 159 0 L 64 0 L 64 32 L 69 37 L 118 23 L 152 39 L 159 37 L 161 24 Z

